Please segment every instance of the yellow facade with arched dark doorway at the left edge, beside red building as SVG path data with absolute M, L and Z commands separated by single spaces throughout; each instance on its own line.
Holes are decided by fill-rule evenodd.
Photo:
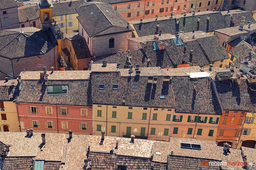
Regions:
M 20 131 L 15 103 L 13 103 L 12 101 L 1 101 L 0 114 L 1 114 L 1 120 L 0 120 L 1 131 L 6 131 L 6 132 Z

